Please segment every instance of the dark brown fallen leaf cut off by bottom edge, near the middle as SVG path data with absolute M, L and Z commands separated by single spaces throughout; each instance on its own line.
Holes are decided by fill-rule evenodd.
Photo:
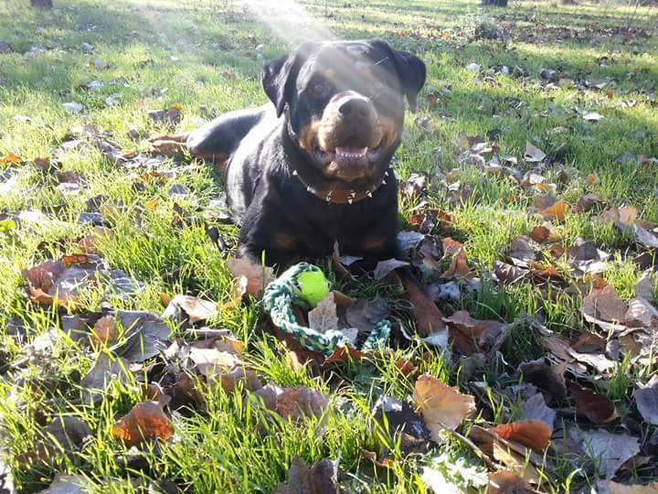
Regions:
M 271 494 L 347 494 L 338 486 L 338 460 L 324 460 L 306 467 L 301 457 L 292 460 L 288 483 L 279 484 Z

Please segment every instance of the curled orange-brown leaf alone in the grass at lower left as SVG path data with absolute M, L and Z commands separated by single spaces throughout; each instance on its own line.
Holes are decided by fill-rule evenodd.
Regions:
M 174 427 L 156 402 L 142 402 L 114 424 L 112 435 L 126 446 L 139 446 L 145 439 L 159 437 L 164 441 L 174 436 Z

